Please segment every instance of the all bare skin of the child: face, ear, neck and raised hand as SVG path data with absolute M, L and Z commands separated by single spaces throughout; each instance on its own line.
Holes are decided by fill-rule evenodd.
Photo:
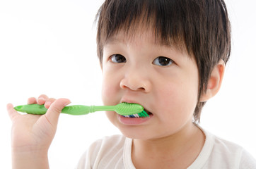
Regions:
M 107 112 L 107 117 L 124 136 L 134 138 L 132 161 L 136 168 L 187 168 L 197 158 L 205 139 L 192 123 L 199 88 L 194 56 L 155 42 L 150 30 L 135 32 L 134 38 L 124 35 L 121 31 L 104 44 L 103 103 L 137 103 L 152 114 L 141 119 Z M 219 91 L 224 69 L 224 62 L 219 61 L 199 101 Z M 59 113 L 70 101 L 45 95 L 28 99 L 28 104 L 36 103 L 49 108 L 45 115 L 20 115 L 8 104 L 13 121 L 13 168 L 49 168 L 47 151 Z

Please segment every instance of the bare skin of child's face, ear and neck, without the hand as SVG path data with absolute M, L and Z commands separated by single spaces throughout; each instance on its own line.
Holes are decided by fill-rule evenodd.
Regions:
M 187 168 L 204 144 L 203 132 L 192 123 L 199 86 L 197 64 L 186 51 L 156 43 L 151 31 L 141 32 L 133 39 L 120 32 L 107 40 L 103 102 L 141 104 L 153 115 L 142 123 L 115 112 L 107 112 L 107 117 L 125 136 L 134 138 L 132 161 L 136 168 Z M 160 62 L 163 58 L 158 56 L 171 60 Z M 219 91 L 223 71 L 224 62 L 220 61 L 201 101 Z

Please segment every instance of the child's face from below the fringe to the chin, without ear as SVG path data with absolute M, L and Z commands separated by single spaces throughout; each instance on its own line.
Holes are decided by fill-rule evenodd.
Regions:
M 136 103 L 150 118 L 124 118 L 107 112 L 127 137 L 157 139 L 190 130 L 197 104 L 197 64 L 186 51 L 157 44 L 151 32 L 127 39 L 122 32 L 103 48 L 103 103 Z

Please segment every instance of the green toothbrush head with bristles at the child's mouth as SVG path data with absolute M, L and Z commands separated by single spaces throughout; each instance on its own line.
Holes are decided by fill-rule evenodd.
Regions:
M 115 106 L 115 112 L 129 118 L 146 118 L 148 113 L 139 104 L 121 103 Z

